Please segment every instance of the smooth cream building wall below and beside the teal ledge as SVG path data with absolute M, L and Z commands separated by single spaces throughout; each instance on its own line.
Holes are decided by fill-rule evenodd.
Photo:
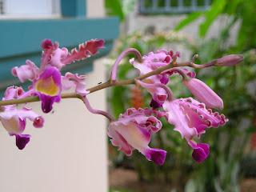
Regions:
M 104 16 L 96 5 L 103 5 L 103 0 L 87 1 L 89 17 Z M 105 80 L 102 58 L 86 75 L 88 88 Z M 105 90 L 88 99 L 95 109 L 106 110 Z M 40 105 L 28 104 L 43 114 Z M 24 134 L 32 137 L 24 150 L 18 150 L 15 138 L 0 126 L 0 191 L 108 191 L 106 118 L 90 114 L 76 98 L 62 99 L 53 112 L 43 115 L 46 122 L 41 129 L 27 121 Z

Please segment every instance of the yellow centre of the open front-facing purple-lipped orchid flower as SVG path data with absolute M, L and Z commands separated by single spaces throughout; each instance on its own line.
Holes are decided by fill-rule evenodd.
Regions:
M 54 79 L 52 77 L 38 81 L 36 90 L 42 94 L 48 94 L 50 96 L 58 94 L 58 86 L 54 84 Z

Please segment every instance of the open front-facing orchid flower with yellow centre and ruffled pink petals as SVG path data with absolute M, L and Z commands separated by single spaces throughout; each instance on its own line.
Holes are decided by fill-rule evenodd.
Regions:
M 80 59 L 89 58 L 90 55 L 98 53 L 98 49 L 104 48 L 104 40 L 95 39 L 85 44 L 79 45 L 79 50 L 73 49 L 71 53 L 63 48 L 58 48 L 58 42 L 52 43 L 50 39 L 42 41 L 42 60 L 40 68 L 34 65 L 30 60 L 26 65 L 14 67 L 11 72 L 17 76 L 21 82 L 29 79 L 33 82 L 34 95 L 38 95 L 42 101 L 42 111 L 49 113 L 52 110 L 54 102 L 60 102 L 60 94 L 63 90 L 69 90 L 74 87 L 77 94 L 86 95 L 84 82 L 86 76 L 66 73 L 63 77 L 60 70 L 63 66 Z

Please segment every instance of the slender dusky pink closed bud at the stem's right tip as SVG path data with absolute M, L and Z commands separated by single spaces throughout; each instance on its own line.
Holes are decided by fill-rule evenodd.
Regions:
M 216 61 L 214 66 L 234 66 L 237 65 L 239 62 L 242 62 L 242 60 L 242 54 L 230 54 L 224 58 L 218 58 L 214 60 Z

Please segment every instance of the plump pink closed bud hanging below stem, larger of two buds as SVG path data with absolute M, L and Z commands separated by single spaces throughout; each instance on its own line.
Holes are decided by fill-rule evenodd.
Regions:
M 191 93 L 194 94 L 194 97 L 196 97 L 199 102 L 206 104 L 206 107 L 221 110 L 223 109 L 222 98 L 211 90 L 206 83 L 197 78 L 190 78 L 188 81 L 183 79 L 182 82 L 191 91 Z

